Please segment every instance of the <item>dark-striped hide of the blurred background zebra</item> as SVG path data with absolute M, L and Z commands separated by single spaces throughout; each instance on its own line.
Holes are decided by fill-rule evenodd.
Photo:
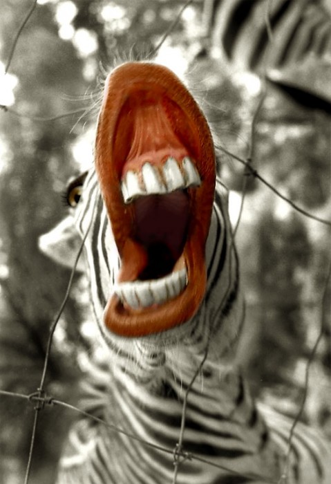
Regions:
M 301 64 L 308 57 L 331 62 L 330 9 L 311 0 L 214 0 L 206 9 L 214 55 L 257 73 Z M 325 2 L 326 3 L 326 2 Z M 269 39 L 267 18 L 271 27 Z

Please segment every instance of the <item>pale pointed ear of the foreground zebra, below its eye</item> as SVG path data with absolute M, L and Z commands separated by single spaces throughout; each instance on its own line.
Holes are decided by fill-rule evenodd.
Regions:
M 82 238 L 75 229 L 73 216 L 68 215 L 64 220 L 38 239 L 39 250 L 53 261 L 72 269 L 82 245 Z M 76 270 L 84 272 L 84 257 L 79 257 Z

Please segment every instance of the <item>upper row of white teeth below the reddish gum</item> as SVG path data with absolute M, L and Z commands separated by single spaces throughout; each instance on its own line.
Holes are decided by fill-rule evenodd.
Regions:
M 140 172 L 129 170 L 122 180 L 122 194 L 125 203 L 138 196 L 147 194 L 165 194 L 187 187 L 198 187 L 200 176 L 188 156 L 178 163 L 169 157 L 162 166 L 146 162 Z

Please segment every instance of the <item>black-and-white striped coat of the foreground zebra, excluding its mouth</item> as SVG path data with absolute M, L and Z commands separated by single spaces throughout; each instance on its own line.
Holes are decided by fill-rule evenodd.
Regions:
M 191 321 L 160 335 L 124 339 L 104 328 L 104 304 L 120 258 L 93 169 L 85 181 L 76 222 L 82 236 L 89 227 L 85 245 L 93 309 L 106 343 L 104 363 L 91 366 L 84 382 L 81 407 L 139 440 L 81 418 L 70 431 L 58 483 L 173 482 L 173 455 L 142 440 L 170 451 L 176 447 L 185 392 L 206 353 L 189 391 L 183 445 L 185 452 L 209 464 L 185 460 L 176 482 L 281 482 L 292 422 L 256 407 L 233 364 L 244 308 L 220 181 L 216 180 L 207 240 L 205 299 Z M 289 462 L 287 484 L 329 482 L 330 449 L 306 427 L 296 427 Z

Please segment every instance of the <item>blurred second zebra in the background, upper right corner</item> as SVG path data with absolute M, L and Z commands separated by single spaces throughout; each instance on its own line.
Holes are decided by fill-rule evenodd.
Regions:
M 196 60 L 254 73 L 330 112 L 330 0 L 205 0 Z

